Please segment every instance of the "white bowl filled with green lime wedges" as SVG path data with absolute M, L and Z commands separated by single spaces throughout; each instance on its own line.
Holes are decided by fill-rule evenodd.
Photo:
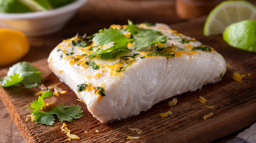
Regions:
M 0 27 L 22 31 L 28 37 L 63 28 L 88 0 L 0 0 Z

